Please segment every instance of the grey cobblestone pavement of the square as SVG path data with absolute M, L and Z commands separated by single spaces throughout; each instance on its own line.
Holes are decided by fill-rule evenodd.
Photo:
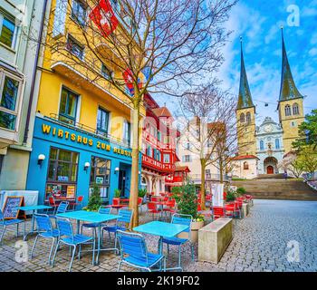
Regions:
M 141 215 L 141 222 L 150 218 Z M 235 222 L 234 222 L 235 225 Z M 30 222 L 27 222 L 30 226 Z M 21 237 L 14 237 L 15 227 L 5 233 L 3 245 L 0 247 L 0 271 L 67 271 L 70 263 L 69 250 L 62 247 L 58 252 L 55 265 L 48 266 L 50 241 L 39 239 L 34 252 L 34 258 L 27 262 L 16 262 L 18 249 L 16 242 Z M 192 262 L 190 249 L 182 251 L 182 261 L 185 271 L 317 271 L 317 202 L 313 201 L 284 201 L 284 200 L 255 200 L 255 206 L 247 218 L 237 220 L 234 228 L 234 239 L 227 248 L 221 261 L 216 264 Z M 90 231 L 86 232 L 91 234 Z M 156 251 L 158 237 L 146 236 L 149 250 Z M 27 241 L 28 252 L 34 243 L 34 237 Z M 297 244 L 298 243 L 298 244 Z M 113 246 L 105 235 L 106 246 Z M 288 262 L 288 256 L 296 260 L 296 245 L 299 245 L 298 261 Z M 196 245 L 197 246 L 197 245 Z M 289 246 L 289 247 L 287 247 Z M 166 251 L 166 249 L 165 249 Z M 168 266 L 177 264 L 177 249 L 171 249 L 168 256 Z M 83 253 L 81 260 L 76 259 L 72 271 L 116 271 L 119 257 L 113 252 L 102 252 L 100 265 L 91 265 L 91 253 Z M 121 271 L 134 271 L 133 268 L 122 266 Z

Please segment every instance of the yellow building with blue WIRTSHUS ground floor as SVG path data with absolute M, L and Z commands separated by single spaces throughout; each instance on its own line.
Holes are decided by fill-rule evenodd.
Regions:
M 40 191 L 40 203 L 83 196 L 87 204 L 95 184 L 105 201 L 115 189 L 122 197 L 130 194 L 132 107 L 121 92 L 125 82 L 120 91 L 108 81 L 123 79 L 124 72 L 109 62 L 120 60 L 107 39 L 84 26 L 90 11 L 80 0 L 52 1 L 27 181 L 28 189 Z M 118 24 L 117 31 L 124 27 Z M 104 59 L 91 49 L 101 50 Z

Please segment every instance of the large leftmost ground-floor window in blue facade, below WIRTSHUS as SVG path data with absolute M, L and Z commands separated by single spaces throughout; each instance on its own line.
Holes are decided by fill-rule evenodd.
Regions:
M 75 198 L 78 171 L 77 152 L 51 148 L 45 199 Z

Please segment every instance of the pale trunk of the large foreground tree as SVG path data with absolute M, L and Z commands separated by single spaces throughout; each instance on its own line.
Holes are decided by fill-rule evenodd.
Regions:
M 131 228 L 139 225 L 139 104 L 136 102 L 132 111 L 132 166 L 130 181 L 130 208 L 133 209 Z

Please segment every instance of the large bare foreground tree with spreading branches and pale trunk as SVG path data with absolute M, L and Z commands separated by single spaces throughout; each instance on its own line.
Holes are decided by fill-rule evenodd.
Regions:
M 72 14 L 72 1 L 65 1 L 68 5 L 51 11 L 44 62 L 62 59 L 89 82 L 111 92 L 116 89 L 130 105 L 130 208 L 135 212 L 135 226 L 139 223 L 139 110 L 144 93 L 182 96 L 215 71 L 228 34 L 223 24 L 236 0 L 120 0 L 116 6 L 109 0 L 87 0 L 82 1 L 88 12 L 84 21 Z M 62 9 L 75 18 L 69 25 L 72 36 L 84 47 L 84 58 L 70 52 L 66 35 L 56 33 L 56 14 Z M 106 64 L 103 73 L 101 63 Z

